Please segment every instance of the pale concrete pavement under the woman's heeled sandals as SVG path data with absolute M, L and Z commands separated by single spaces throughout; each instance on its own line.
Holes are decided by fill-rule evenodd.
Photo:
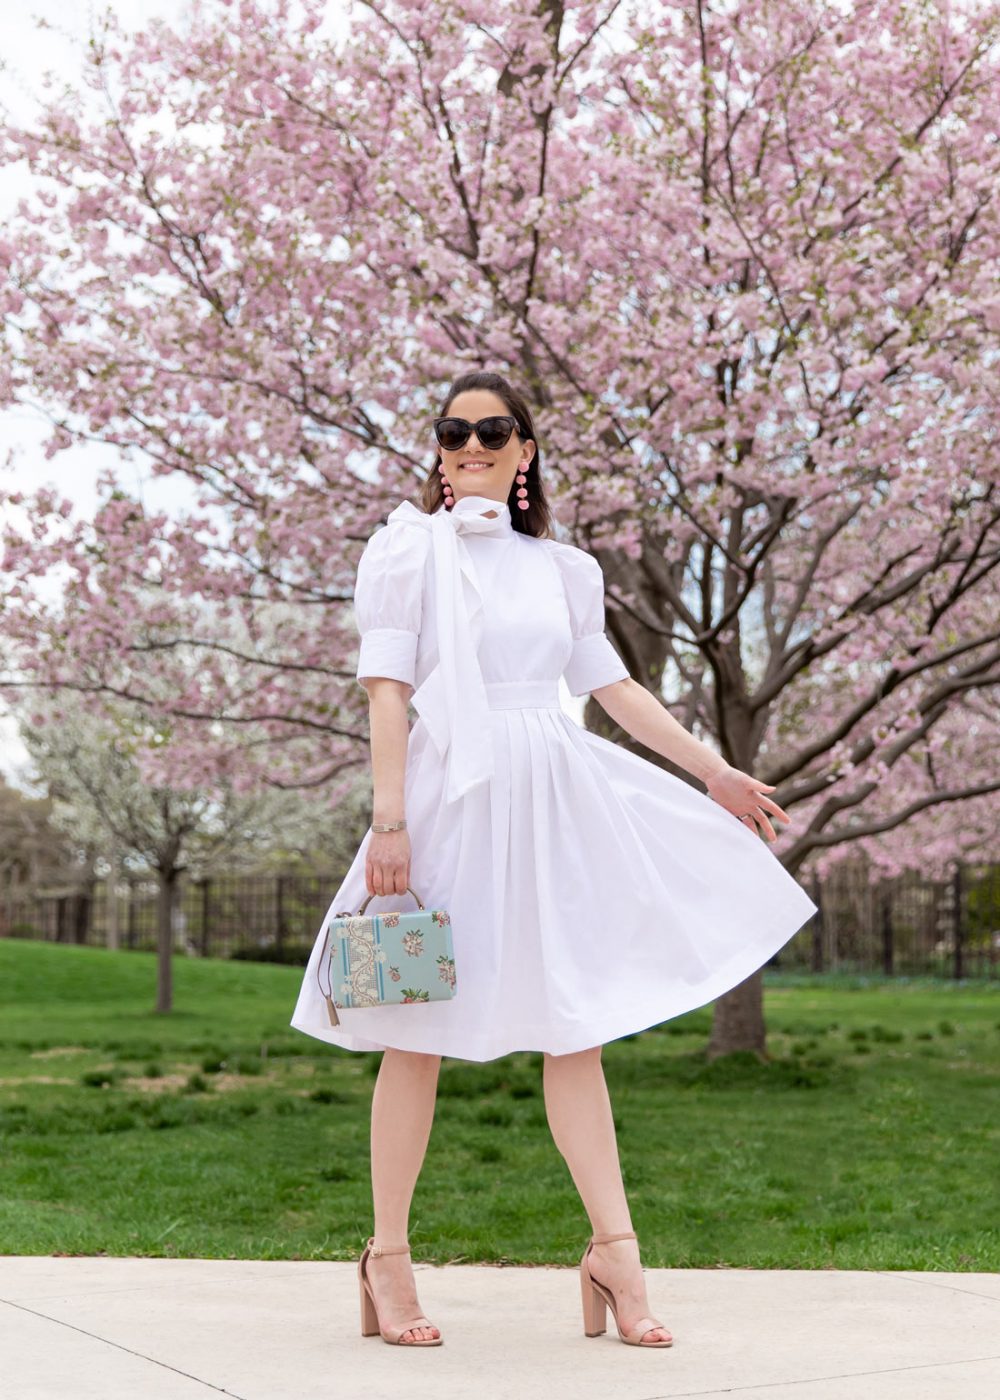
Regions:
M 646 1270 L 674 1345 L 583 1334 L 571 1268 L 415 1264 L 444 1336 L 360 1336 L 354 1264 L 0 1256 L 4 1400 L 997 1400 L 1000 1274 Z

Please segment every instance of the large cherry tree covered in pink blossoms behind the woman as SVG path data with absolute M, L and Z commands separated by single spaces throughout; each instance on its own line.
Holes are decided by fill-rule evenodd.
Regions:
M 7 130 L 39 193 L 0 235 L 0 392 L 192 497 L 14 493 L 7 680 L 154 706 L 175 780 L 335 787 L 357 554 L 443 388 L 499 368 L 630 672 L 777 784 L 791 872 L 987 853 L 1000 6 L 322 17 L 109 22 Z M 759 973 L 730 1049 L 763 1050 Z

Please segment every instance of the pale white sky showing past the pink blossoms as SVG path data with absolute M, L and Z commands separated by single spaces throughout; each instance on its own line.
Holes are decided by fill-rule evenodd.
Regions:
M 60 83 L 74 84 L 83 67 L 87 38 L 95 20 L 113 11 L 126 29 L 141 29 L 151 20 L 176 22 L 189 8 L 188 0 L 27 0 L 7 4 L 3 14 L 3 70 L 0 70 L 0 106 L 18 120 L 29 120 L 38 109 L 42 78 L 50 71 Z M 331 0 L 329 28 L 345 34 L 347 0 Z M 41 21 L 41 24 L 39 24 Z M 17 202 L 31 192 L 31 175 L 24 167 L 0 171 L 0 225 Z M 101 445 L 70 448 L 45 461 L 41 444 L 48 435 L 45 420 L 28 409 L 0 413 L 0 470 L 11 449 L 15 452 L 14 476 L 25 487 L 50 483 L 67 496 L 81 515 L 91 515 L 97 505 L 98 473 L 112 466 L 123 484 L 137 494 L 148 510 L 179 510 L 186 503 L 185 487 L 169 477 L 153 479 L 141 462 L 126 462 L 113 449 Z M 574 718 L 581 704 L 563 687 L 563 703 Z M 27 755 L 15 725 L 0 715 L 0 773 L 8 781 L 27 781 Z

